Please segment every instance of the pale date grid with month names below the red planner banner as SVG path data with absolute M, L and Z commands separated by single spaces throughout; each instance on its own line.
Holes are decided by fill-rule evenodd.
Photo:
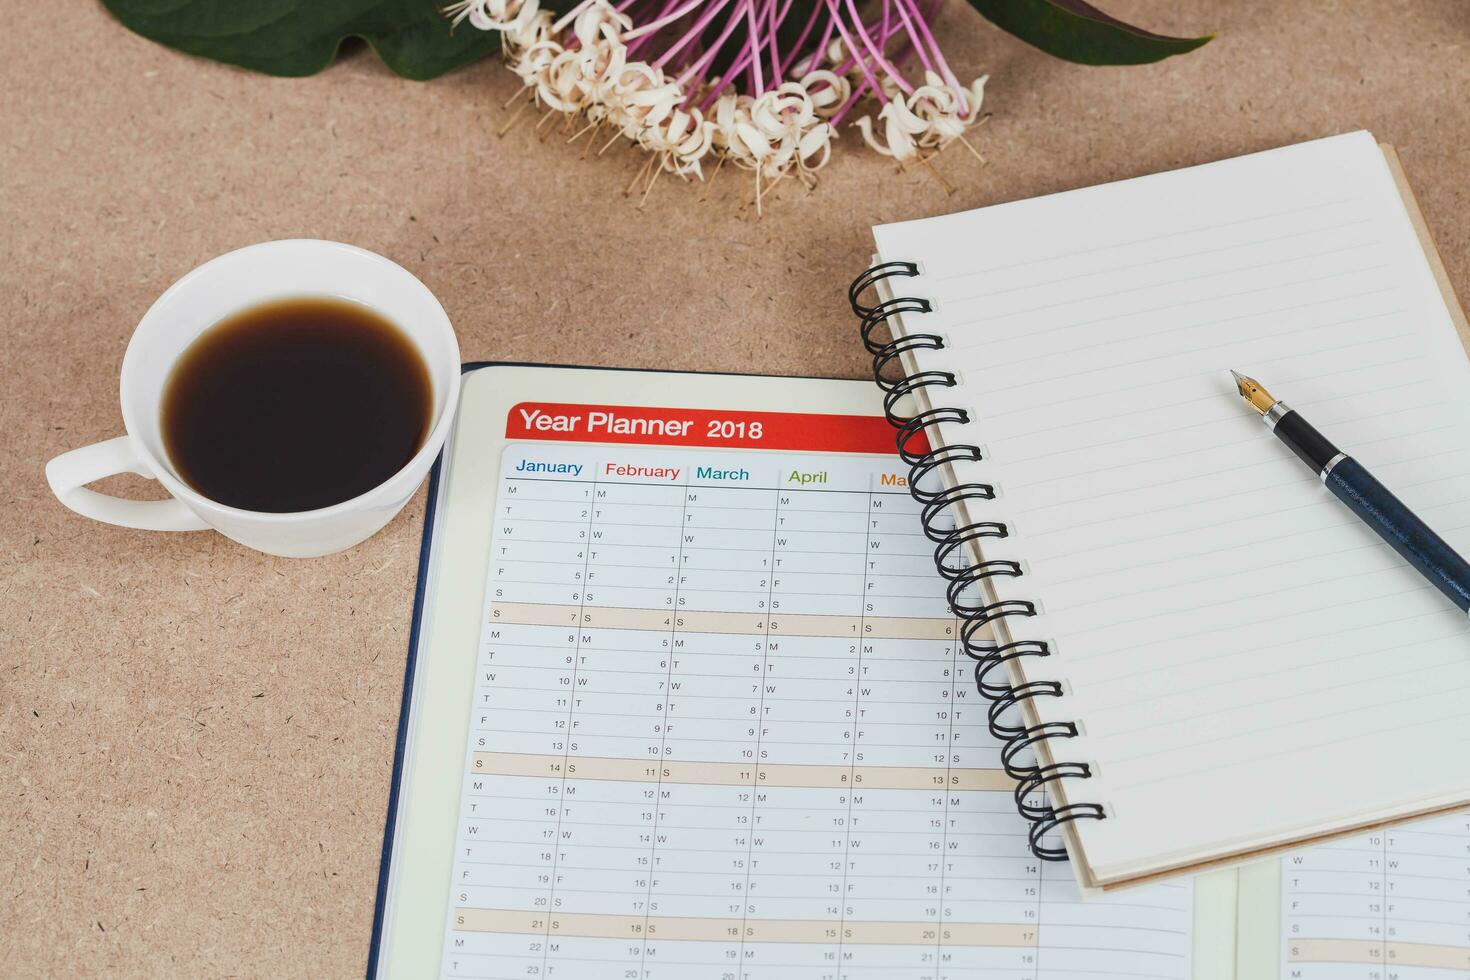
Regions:
M 1186 889 L 1026 851 L 901 483 L 507 448 L 444 976 L 1185 976 Z

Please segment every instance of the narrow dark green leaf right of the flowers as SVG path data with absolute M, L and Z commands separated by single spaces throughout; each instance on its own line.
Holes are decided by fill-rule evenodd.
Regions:
M 970 6 L 1003 31 L 1079 65 L 1147 65 L 1214 37 L 1151 34 L 1082 0 L 970 0 Z

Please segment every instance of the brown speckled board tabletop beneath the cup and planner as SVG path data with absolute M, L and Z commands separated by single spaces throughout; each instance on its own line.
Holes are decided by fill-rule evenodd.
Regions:
M 118 369 L 173 279 L 270 238 L 335 238 L 434 289 L 466 359 L 861 376 L 844 309 L 869 225 L 1357 128 L 1404 159 L 1470 278 L 1470 4 L 1108 0 L 1216 29 L 1157 66 L 1048 59 L 951 4 L 980 137 L 894 167 L 844 132 L 811 194 L 757 220 L 641 159 L 584 160 L 514 76 L 434 82 L 357 51 L 275 79 L 166 50 L 94 3 L 15 3 L 0 85 L 0 974 L 362 973 L 398 720 L 422 492 L 387 530 L 293 561 L 213 533 L 106 527 L 44 461 L 118 435 Z M 1182 9 L 1176 9 L 1182 7 Z M 141 479 L 112 488 L 156 492 Z

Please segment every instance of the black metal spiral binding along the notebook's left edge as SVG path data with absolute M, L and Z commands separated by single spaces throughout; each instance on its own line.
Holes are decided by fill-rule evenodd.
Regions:
M 966 545 L 983 538 L 1005 538 L 1010 529 L 998 522 L 975 522 L 945 527 L 947 513 L 961 501 L 988 501 L 995 498 L 995 488 L 986 483 L 958 483 L 944 486 L 936 475 L 947 463 L 978 461 L 982 450 L 978 445 L 938 445 L 931 429 L 939 423 L 964 425 L 970 420 L 964 408 L 936 406 L 913 416 L 898 414 L 898 407 L 908 395 L 923 388 L 956 388 L 958 376 L 944 370 L 920 370 L 906 373 L 903 359 L 919 350 L 944 350 L 945 341 L 938 334 L 906 334 L 895 338 L 888 331 L 888 339 L 879 334 L 886 331 L 894 314 L 931 313 L 933 304 L 920 297 L 894 295 L 876 303 L 863 303 L 863 294 L 883 279 L 901 276 L 914 278 L 919 266 L 911 262 L 883 262 L 863 272 L 848 287 L 847 298 L 861 322 L 863 347 L 873 356 L 873 381 L 883 389 L 883 414 L 898 430 L 898 455 L 908 464 L 908 492 L 923 510 L 920 522 L 923 533 L 935 544 L 933 563 L 948 582 L 945 598 L 950 608 L 963 623 L 960 644 L 966 657 L 975 661 L 975 686 L 980 696 L 989 701 L 986 723 L 991 735 L 1001 741 L 1001 765 L 1016 780 L 1016 810 L 1030 823 L 1028 843 L 1032 854 L 1042 861 L 1066 861 L 1067 851 L 1054 842 L 1054 833 L 1073 820 L 1105 820 L 1107 813 L 1100 804 L 1073 802 L 1053 807 L 1045 789 L 1061 779 L 1091 779 L 1092 767 L 1086 763 L 1054 761 L 1042 764 L 1035 746 L 1047 739 L 1073 739 L 1080 729 L 1072 721 L 1044 721 L 1028 726 L 1022 702 L 1035 698 L 1061 698 L 1064 691 L 1055 680 L 1029 680 L 1022 685 L 1010 682 L 1008 664 L 1025 657 L 1044 658 L 1051 655 L 1045 641 L 1017 639 L 1010 644 L 994 644 L 978 638 L 989 623 L 1008 617 L 1030 617 L 1036 604 L 1026 599 L 1001 599 L 986 602 L 983 582 L 991 577 L 1020 577 L 1025 569 L 1016 561 L 979 561 L 964 558 Z M 931 404 L 936 400 L 931 398 Z M 919 438 L 925 438 L 920 448 Z M 938 447 L 938 448 L 933 448 Z M 938 489 L 935 486 L 938 485 Z

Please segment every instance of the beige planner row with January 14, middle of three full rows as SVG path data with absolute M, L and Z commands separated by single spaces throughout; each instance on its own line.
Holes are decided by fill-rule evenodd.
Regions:
M 481 776 L 538 776 L 625 783 L 663 782 L 703 786 L 804 786 L 810 789 L 986 789 L 1011 792 L 1016 780 L 998 768 L 922 768 L 904 765 L 792 765 L 754 763 L 645 763 L 634 758 L 563 757 L 531 752 L 475 752 Z

